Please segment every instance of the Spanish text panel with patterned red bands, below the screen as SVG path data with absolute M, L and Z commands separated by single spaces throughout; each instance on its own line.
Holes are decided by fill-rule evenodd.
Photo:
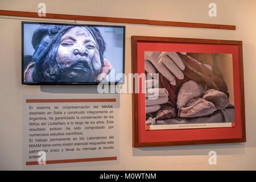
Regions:
M 24 168 L 117 162 L 118 107 L 117 94 L 24 98 Z

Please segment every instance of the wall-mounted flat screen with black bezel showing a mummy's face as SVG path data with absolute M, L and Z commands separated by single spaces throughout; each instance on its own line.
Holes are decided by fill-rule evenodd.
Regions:
M 22 84 L 123 83 L 125 26 L 22 22 Z

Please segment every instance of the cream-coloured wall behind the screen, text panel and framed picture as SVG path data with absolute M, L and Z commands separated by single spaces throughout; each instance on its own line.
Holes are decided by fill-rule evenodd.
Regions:
M 1 0 L 0 9 L 38 11 L 41 0 Z M 217 4 L 217 17 L 208 16 L 210 2 Z M 113 16 L 174 20 L 181 22 L 234 24 L 236 31 L 201 28 L 179 28 L 125 24 L 126 65 L 131 72 L 130 37 L 132 35 L 169 36 L 181 38 L 226 39 L 243 41 L 245 79 L 246 143 L 208 144 L 173 147 L 132 147 L 131 94 L 122 94 L 119 120 L 120 158 L 118 164 L 63 169 L 116 169 L 116 170 L 176 170 L 176 169 L 256 169 L 256 1 L 255 0 L 45 0 L 48 13 Z M 23 18 L 27 19 L 27 18 Z M 79 22 L 88 23 L 88 22 Z M 94 24 L 96 22 L 93 22 Z M 22 104 L 23 96 L 60 95 L 56 88 L 21 84 L 20 18 L 1 17 L 0 34 L 0 169 L 22 169 Z M 103 23 L 101 23 L 103 24 Z M 114 23 L 111 23 L 114 24 Z M 61 89 L 61 87 L 59 88 Z M 94 88 L 89 87 L 86 92 Z M 44 92 L 48 90 L 49 92 Z M 86 87 L 74 86 L 74 92 Z M 61 93 L 63 94 L 63 93 Z M 218 154 L 217 165 L 208 164 L 208 152 Z M 58 168 L 61 169 L 61 168 Z

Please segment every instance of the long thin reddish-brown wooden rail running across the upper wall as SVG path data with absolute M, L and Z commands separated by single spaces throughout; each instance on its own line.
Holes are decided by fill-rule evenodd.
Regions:
M 131 24 L 148 24 L 148 25 L 156 25 L 156 26 L 236 30 L 236 26 L 226 25 L 226 24 L 170 22 L 170 21 L 147 20 L 147 19 L 113 18 L 113 17 L 103 17 L 103 16 L 68 15 L 68 14 L 53 14 L 53 13 L 47 13 L 46 16 L 40 17 L 40 16 L 38 16 L 38 13 L 28 12 L 28 11 L 0 10 L 0 15 L 2 15 L 2 16 L 22 16 L 22 17 L 28 17 L 28 18 L 81 20 L 81 21 L 90 21 L 90 22 L 131 23 Z

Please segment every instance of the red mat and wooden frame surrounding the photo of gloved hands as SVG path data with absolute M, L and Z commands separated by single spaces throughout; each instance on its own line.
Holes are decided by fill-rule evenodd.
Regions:
M 133 73 L 144 73 L 145 51 L 232 54 L 234 125 L 203 129 L 147 130 L 144 93 L 133 93 L 133 147 L 246 142 L 241 41 L 132 36 Z

